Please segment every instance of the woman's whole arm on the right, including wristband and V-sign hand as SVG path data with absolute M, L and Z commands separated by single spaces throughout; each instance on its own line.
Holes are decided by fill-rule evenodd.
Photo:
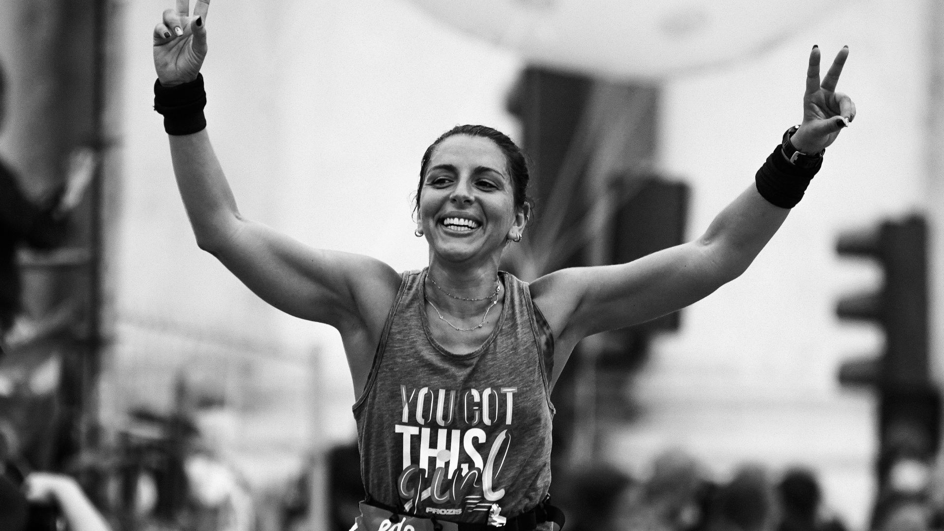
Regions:
M 628 264 L 562 269 L 531 284 L 559 346 L 683 308 L 750 266 L 802 197 L 822 150 L 855 117 L 849 96 L 835 92 L 848 54 L 844 47 L 820 82 L 819 49 L 813 48 L 800 128 L 784 135 L 784 145 L 767 158 L 756 182 L 698 239 Z

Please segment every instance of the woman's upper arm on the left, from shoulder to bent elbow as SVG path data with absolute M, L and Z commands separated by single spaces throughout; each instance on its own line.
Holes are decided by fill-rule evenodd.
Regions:
M 343 333 L 363 326 L 379 334 L 400 283 L 392 267 L 359 254 L 311 248 L 253 221 L 237 219 L 227 232 L 208 250 L 262 300 Z

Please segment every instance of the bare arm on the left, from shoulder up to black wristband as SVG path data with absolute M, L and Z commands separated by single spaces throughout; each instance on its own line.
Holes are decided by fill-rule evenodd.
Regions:
M 177 188 L 200 248 L 279 310 L 342 333 L 359 325 L 379 332 L 399 287 L 393 268 L 359 254 L 311 248 L 244 218 L 206 129 L 169 140 Z

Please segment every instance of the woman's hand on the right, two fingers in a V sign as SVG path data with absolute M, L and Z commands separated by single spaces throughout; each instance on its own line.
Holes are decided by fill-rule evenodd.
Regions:
M 791 143 L 803 153 L 818 153 L 833 144 L 842 128 L 855 118 L 855 104 L 846 94 L 835 92 L 842 67 L 849 57 L 844 46 L 833 60 L 826 77 L 819 81 L 819 47 L 813 46 L 806 69 L 806 93 L 803 94 L 803 122 Z

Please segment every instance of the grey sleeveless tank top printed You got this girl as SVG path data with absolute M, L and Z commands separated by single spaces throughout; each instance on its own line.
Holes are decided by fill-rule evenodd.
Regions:
M 447 351 L 430 334 L 426 274 L 403 273 L 353 406 L 364 488 L 368 499 L 416 516 L 514 517 L 544 501 L 550 485 L 547 321 L 528 284 L 501 271 L 495 330 L 477 351 Z

